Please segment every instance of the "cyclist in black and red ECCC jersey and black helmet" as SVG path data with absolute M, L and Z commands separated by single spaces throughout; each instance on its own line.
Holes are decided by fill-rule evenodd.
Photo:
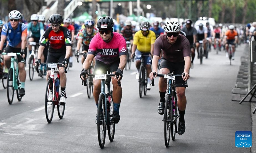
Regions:
M 67 77 L 64 71 L 68 67 L 69 55 L 71 52 L 71 33 L 68 28 L 61 26 L 63 18 L 60 14 L 52 14 L 49 18 L 51 27 L 46 29 L 44 32 L 41 44 L 38 48 L 38 61 L 37 64 L 41 63 L 41 56 L 43 50 L 46 46 L 47 41 L 50 42 L 49 53 L 47 56 L 47 62 L 61 63 L 59 67 L 60 72 L 60 87 L 61 87 L 61 97 L 60 103 L 66 103 L 66 83 Z M 51 68 L 48 68 L 46 79 L 50 75 Z

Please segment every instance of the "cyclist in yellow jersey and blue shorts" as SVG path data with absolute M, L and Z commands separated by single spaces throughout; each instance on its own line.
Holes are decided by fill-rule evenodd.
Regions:
M 138 70 L 136 74 L 136 79 L 139 79 L 139 69 L 140 69 L 140 60 L 142 58 L 141 53 L 145 56 L 145 64 L 147 69 L 147 89 L 150 90 L 150 78 L 149 73 L 152 71 L 151 69 L 151 59 L 154 52 L 154 43 L 156 40 L 156 34 L 149 30 L 150 24 L 149 22 L 142 22 L 140 25 L 140 31 L 136 32 L 133 37 L 133 45 L 132 45 L 132 54 L 131 57 L 135 54 L 135 60 L 136 60 L 136 68 Z M 136 51 L 136 52 L 135 52 Z

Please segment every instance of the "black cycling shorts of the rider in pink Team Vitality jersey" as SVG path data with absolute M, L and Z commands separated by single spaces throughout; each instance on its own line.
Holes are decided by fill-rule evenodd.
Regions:
M 105 64 L 103 62 L 100 62 L 98 60 L 95 61 L 95 66 L 94 66 L 94 70 L 93 70 L 93 74 L 96 74 L 96 72 L 98 70 L 100 70 L 101 74 L 107 74 L 107 70 L 109 68 L 110 73 L 115 72 L 118 69 L 120 63 L 120 59 L 116 60 L 115 62 L 111 63 L 111 64 Z

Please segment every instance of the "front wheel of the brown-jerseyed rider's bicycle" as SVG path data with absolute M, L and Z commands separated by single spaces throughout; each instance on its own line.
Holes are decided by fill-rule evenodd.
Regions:
M 164 143 L 165 146 L 168 147 L 170 143 L 170 135 L 171 135 L 171 129 L 170 124 L 168 120 L 170 120 L 171 113 L 170 113 L 170 95 L 168 94 L 165 97 L 165 106 L 164 106 Z

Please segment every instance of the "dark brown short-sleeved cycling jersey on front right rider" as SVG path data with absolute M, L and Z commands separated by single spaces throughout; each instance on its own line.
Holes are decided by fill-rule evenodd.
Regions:
M 188 39 L 181 34 L 174 44 L 168 42 L 166 34 L 160 35 L 154 44 L 154 55 L 160 56 L 161 49 L 164 59 L 170 62 L 184 62 L 184 57 L 191 52 Z

